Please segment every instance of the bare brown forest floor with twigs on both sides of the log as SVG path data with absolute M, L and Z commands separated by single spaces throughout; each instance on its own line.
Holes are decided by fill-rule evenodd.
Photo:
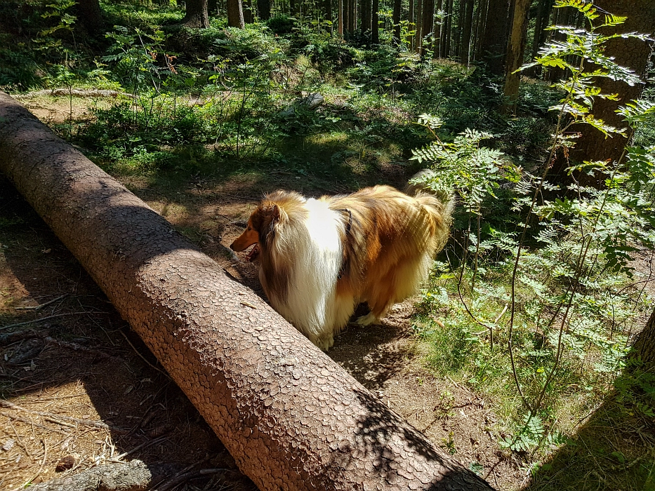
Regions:
M 69 101 L 22 101 L 42 121 L 62 123 Z M 86 103 L 75 100 L 74 116 Z M 402 187 L 406 168 L 381 168 Z M 256 265 L 227 245 L 265 191 L 339 192 L 293 173 L 239 174 L 187 182 L 117 176 L 128 189 L 243 283 L 261 292 Z M 328 186 L 329 187 L 329 186 Z M 140 459 L 170 464 L 168 480 L 197 474 L 178 490 L 251 490 L 218 438 L 161 371 L 138 336 L 46 224 L 0 177 L 0 488 L 11 490 L 102 463 Z M 38 307 L 43 305 L 39 309 Z M 411 328 L 411 301 L 379 326 L 351 326 L 328 356 L 435 445 L 498 490 L 529 485 L 530 469 L 501 450 L 489 401 L 421 364 Z M 8 325 L 34 319 L 14 337 Z M 11 404 L 6 404 L 8 401 Z M 124 455 L 128 452 L 128 455 Z M 64 457 L 73 469 L 58 472 Z M 61 467 L 61 465 L 60 465 Z

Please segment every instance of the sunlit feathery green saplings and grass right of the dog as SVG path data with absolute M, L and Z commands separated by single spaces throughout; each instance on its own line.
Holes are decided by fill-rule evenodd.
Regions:
M 626 370 L 632 325 L 653 305 L 639 286 L 649 276 L 644 280 L 632 262 L 633 253 L 655 243 L 653 147 L 628 147 L 620 161 L 571 165 L 566 189 L 547 180 L 557 149 L 574 144 L 571 126 L 619 132 L 591 113 L 593 97 L 607 97 L 593 81 L 639 81 L 603 57 L 603 45 L 613 36 L 647 36 L 600 34 L 597 29 L 625 19 L 606 14 L 598 20 L 600 13 L 582 1 L 556 6 L 576 8 L 589 27 L 558 27 L 566 41 L 543 48 L 535 62 L 569 70 L 555 84 L 557 128 L 539 173 L 482 147 L 491 135 L 465 130 L 443 142 L 436 133 L 442 121 L 428 114 L 418 122 L 435 140 L 413 152 L 435 170 L 423 184 L 442 194 L 454 189 L 467 217 L 461 242 L 449 253 L 451 265 L 436 264 L 423 292 L 416 330 L 430 346 L 428 363 L 504 401 L 496 410 L 511 434 L 499 443 L 531 453 L 562 443 L 564 429 L 575 424 L 571 413 L 593 410 L 611 389 Z M 574 55 L 600 67 L 588 72 L 584 63 L 571 65 Z M 635 126 L 652 117 L 655 105 L 633 101 L 620 112 Z M 604 185 L 582 186 L 572 177 L 581 171 L 604 176 Z M 503 188 L 511 190 L 508 204 L 522 225 L 489 218 Z

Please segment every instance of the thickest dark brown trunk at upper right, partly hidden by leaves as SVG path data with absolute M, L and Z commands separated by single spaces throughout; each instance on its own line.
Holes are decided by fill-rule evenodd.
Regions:
M 655 2 L 653 1 L 597 0 L 594 4 L 603 11 L 628 17 L 625 24 L 614 27 L 608 32 L 616 32 L 616 29 L 618 29 L 618 32 L 636 31 L 651 35 L 655 32 Z M 632 69 L 645 80 L 650 53 L 651 46 L 649 46 L 649 43 L 637 39 L 618 38 L 609 41 L 604 54 L 614 57 L 614 61 L 618 65 Z M 594 116 L 616 128 L 626 128 L 628 138 L 614 135 L 614 137 L 606 139 L 599 130 L 591 126 L 577 125 L 574 128 L 580 131 L 582 136 L 576 140 L 576 146 L 571 152 L 571 159 L 578 162 L 607 159 L 618 161 L 626 148 L 629 138 L 632 136 L 632 132 L 615 111 L 619 106 L 626 105 L 626 102 L 637 99 L 642 93 L 643 86 L 635 85 L 630 87 L 624 82 L 610 79 L 598 79 L 595 81 L 595 85 L 602 89 L 602 93 L 618 93 L 619 100 L 597 98 L 593 105 Z M 587 184 L 597 184 L 597 182 L 588 182 Z

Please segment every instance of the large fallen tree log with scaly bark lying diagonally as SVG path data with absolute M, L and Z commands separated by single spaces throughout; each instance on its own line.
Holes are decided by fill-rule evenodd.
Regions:
M 491 489 L 4 93 L 0 171 L 261 489 Z

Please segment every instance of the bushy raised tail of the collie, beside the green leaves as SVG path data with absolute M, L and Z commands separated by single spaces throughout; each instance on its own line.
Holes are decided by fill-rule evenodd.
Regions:
M 430 213 L 432 221 L 436 226 L 435 240 L 437 241 L 437 251 L 442 250 L 448 236 L 450 227 L 453 224 L 453 211 L 455 209 L 455 195 L 447 192 L 435 192 L 428 187 L 421 179 L 435 175 L 434 170 L 423 169 L 410 178 L 410 182 L 405 187 L 405 193 L 413 196 L 423 208 Z M 419 182 L 412 182 L 419 180 Z

